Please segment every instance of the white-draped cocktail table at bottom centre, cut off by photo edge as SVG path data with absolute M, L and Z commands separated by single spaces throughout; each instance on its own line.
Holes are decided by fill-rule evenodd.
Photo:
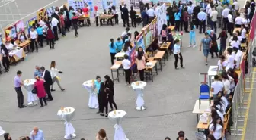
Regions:
M 114 134 L 114 140 L 129 140 L 126 138 L 125 133 L 123 132 L 123 128 L 121 126 L 123 117 L 126 116 L 126 111 L 124 110 L 114 110 L 108 113 L 108 118 L 110 121 L 115 123 L 114 129 L 115 129 L 115 134 Z

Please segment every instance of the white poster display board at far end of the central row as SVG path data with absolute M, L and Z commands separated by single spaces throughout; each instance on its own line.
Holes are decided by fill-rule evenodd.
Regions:
M 157 28 L 158 28 L 157 32 L 159 36 L 162 29 L 162 25 L 167 24 L 165 3 L 161 5 L 160 8 L 158 8 L 158 10 L 156 11 L 156 17 L 157 17 Z

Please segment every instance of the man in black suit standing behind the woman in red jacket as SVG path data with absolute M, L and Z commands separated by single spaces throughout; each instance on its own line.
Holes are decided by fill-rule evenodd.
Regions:
M 50 86 L 53 84 L 53 79 L 50 75 L 50 72 L 48 70 L 45 70 L 44 67 L 40 67 L 41 72 L 43 73 L 42 78 L 44 79 L 44 89 L 46 90 L 46 93 L 48 95 L 47 101 L 52 101 L 53 96 L 50 92 Z

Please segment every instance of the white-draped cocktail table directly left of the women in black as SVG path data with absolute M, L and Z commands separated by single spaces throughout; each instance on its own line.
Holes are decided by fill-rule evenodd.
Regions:
M 95 81 L 95 80 L 94 80 Z M 88 101 L 88 106 L 91 109 L 96 109 L 98 108 L 98 95 L 96 92 L 94 92 L 94 89 L 92 89 L 92 80 L 88 80 L 82 84 L 85 89 L 89 92 L 89 101 Z

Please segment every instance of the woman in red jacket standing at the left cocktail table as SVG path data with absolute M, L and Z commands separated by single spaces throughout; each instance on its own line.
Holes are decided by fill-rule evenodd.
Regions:
M 39 98 L 39 101 L 41 104 L 40 107 L 43 107 L 43 101 L 44 101 L 44 104 L 47 105 L 46 92 L 43 86 L 43 80 L 40 79 L 39 76 L 36 76 L 35 79 L 36 79 L 36 82 L 34 82 L 34 88 L 37 89 L 37 97 Z

